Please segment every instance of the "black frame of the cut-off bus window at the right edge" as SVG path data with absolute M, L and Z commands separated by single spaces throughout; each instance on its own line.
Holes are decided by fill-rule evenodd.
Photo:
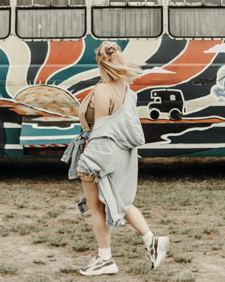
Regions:
M 225 38 L 225 31 L 224 31 L 224 36 L 174 36 L 171 31 L 170 31 L 170 9 L 224 9 L 225 11 L 225 7 L 224 6 L 210 6 L 210 5 L 207 5 L 207 6 L 167 6 L 168 8 L 168 35 L 172 38 L 172 39 L 184 39 L 184 38 L 187 38 L 187 39 L 202 39 L 202 38 L 208 38 L 208 39 L 218 39 L 218 38 Z M 225 30 L 225 29 L 224 29 Z

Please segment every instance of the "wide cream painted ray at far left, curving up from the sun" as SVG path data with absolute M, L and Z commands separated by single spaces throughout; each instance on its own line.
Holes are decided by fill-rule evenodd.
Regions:
M 8 95 L 13 97 L 21 87 L 28 85 L 26 76 L 31 60 L 30 49 L 24 41 L 17 40 L 15 36 L 0 41 L 0 48 L 5 52 L 9 60 L 10 66 L 5 87 Z

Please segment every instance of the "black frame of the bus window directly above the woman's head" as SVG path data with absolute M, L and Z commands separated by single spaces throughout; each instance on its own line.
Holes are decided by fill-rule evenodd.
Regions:
M 97 9 L 101 9 L 101 10 L 103 10 L 103 9 L 134 9 L 134 8 L 141 8 L 141 9 L 149 9 L 149 8 L 152 8 L 152 9 L 160 9 L 161 10 L 161 31 L 160 31 L 160 33 L 159 33 L 159 35 L 157 35 L 157 36 L 148 36 L 148 37 L 146 37 L 146 36 L 127 36 L 127 37 L 122 37 L 122 36 L 108 36 L 108 37 L 104 37 L 104 36 L 97 36 L 97 35 L 95 35 L 95 33 L 94 33 L 94 19 L 93 19 L 93 11 L 94 10 L 97 10 Z M 115 40 L 115 39 L 118 39 L 118 40 L 123 40 L 123 39 L 125 39 L 125 40 L 129 40 L 129 38 L 131 38 L 131 39 L 139 39 L 139 38 L 141 38 L 141 39 L 147 39 L 147 38 L 154 38 L 154 39 L 158 39 L 158 38 L 160 38 L 162 35 L 163 35 L 163 30 L 164 30 L 164 23 L 163 23 L 163 6 L 91 6 L 91 35 L 94 37 L 94 38 L 96 38 L 96 39 L 98 39 L 98 40 L 101 40 L 101 39 L 113 39 L 113 40 Z

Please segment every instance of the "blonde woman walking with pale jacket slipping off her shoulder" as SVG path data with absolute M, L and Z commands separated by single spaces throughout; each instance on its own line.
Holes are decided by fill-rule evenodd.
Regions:
M 81 212 L 89 210 L 98 243 L 98 255 L 82 275 L 116 273 L 110 234 L 125 218 L 142 236 L 146 253 L 156 270 L 164 261 L 168 237 L 155 237 L 140 211 L 132 205 L 137 188 L 137 146 L 144 143 L 136 112 L 137 94 L 129 85 L 141 73 L 141 64 L 122 56 L 116 42 L 104 41 L 95 50 L 101 81 L 85 97 L 79 118 L 85 139 L 77 167 L 84 195 Z

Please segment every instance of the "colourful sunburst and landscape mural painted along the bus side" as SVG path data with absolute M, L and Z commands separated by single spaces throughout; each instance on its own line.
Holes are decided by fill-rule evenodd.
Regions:
M 62 154 L 81 132 L 79 104 L 100 79 L 94 50 L 102 41 L 0 41 L 0 157 Z M 225 156 L 224 41 L 167 33 L 116 41 L 124 56 L 146 62 L 131 85 L 146 139 L 139 156 Z

